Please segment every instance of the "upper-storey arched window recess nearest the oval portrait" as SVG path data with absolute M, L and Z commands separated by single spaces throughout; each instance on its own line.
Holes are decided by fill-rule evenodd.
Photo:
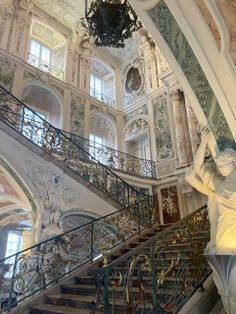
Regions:
M 115 107 L 114 71 L 96 59 L 91 62 L 90 95 L 108 106 Z

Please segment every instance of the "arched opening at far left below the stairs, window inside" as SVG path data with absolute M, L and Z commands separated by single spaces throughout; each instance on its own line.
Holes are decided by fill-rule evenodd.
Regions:
M 36 219 L 31 192 L 18 173 L 0 157 L 0 259 L 35 243 Z

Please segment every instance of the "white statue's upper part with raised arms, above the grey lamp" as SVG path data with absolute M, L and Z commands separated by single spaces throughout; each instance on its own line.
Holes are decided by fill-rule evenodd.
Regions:
M 236 152 L 225 149 L 215 156 L 216 168 L 212 169 L 204 162 L 209 139 L 210 128 L 205 126 L 186 179 L 208 196 L 211 241 L 206 253 L 236 254 Z

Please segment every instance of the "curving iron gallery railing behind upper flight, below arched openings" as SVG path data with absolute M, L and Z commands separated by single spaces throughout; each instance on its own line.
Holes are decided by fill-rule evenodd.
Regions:
M 156 178 L 156 164 L 152 160 L 138 158 L 65 131 L 63 131 L 63 133 L 109 168 L 133 176 L 152 179 Z

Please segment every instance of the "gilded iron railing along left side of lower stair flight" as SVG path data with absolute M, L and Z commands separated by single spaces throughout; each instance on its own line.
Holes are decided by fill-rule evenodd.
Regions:
M 146 198 L 0 260 L 0 312 L 156 223 Z

